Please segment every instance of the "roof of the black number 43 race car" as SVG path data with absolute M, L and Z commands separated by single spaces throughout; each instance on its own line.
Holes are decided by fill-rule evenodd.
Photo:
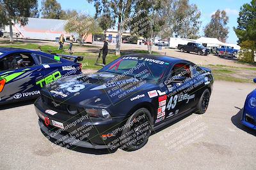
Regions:
M 176 62 L 180 61 L 182 59 L 178 59 L 175 57 L 170 57 L 167 55 L 152 55 L 148 53 L 134 53 L 134 54 L 128 54 L 128 55 L 123 55 L 122 57 L 143 57 L 143 58 L 149 58 L 149 59 L 158 59 L 158 60 L 163 60 L 164 62 Z

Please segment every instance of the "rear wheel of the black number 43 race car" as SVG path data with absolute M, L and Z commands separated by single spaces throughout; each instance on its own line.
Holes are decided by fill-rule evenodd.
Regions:
M 211 93 L 208 89 L 205 89 L 198 104 L 196 105 L 196 114 L 204 114 L 208 108 Z

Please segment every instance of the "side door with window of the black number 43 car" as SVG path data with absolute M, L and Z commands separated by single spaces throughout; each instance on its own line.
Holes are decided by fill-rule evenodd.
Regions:
M 189 62 L 175 64 L 168 80 L 166 118 L 172 118 L 188 111 L 195 98 Z

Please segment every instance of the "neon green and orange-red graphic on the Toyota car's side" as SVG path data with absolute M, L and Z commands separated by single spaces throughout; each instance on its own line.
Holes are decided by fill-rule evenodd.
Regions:
M 20 76 L 21 74 L 25 73 L 28 70 L 30 70 L 30 69 L 23 69 L 22 71 L 17 72 L 17 73 L 12 73 L 13 71 L 6 71 L 5 73 L 1 74 L 1 76 L 0 76 L 0 92 L 3 91 L 4 85 L 6 85 L 6 83 L 8 83 L 9 81 L 12 81 L 13 79 L 17 78 L 18 76 Z M 12 73 L 12 74 L 8 75 L 8 73 Z

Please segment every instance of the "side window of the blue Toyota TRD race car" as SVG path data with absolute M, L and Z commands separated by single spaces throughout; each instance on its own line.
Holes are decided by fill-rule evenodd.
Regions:
M 30 53 L 12 53 L 0 60 L 0 71 L 31 67 L 35 61 Z

